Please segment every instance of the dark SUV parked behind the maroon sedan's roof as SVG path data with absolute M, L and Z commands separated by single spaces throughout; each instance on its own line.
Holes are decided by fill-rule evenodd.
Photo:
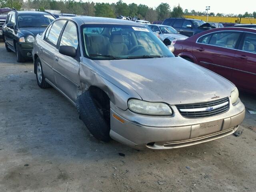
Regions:
M 176 29 L 180 34 L 192 36 L 194 34 L 216 28 L 209 23 L 197 19 L 168 18 L 162 25 L 168 25 Z

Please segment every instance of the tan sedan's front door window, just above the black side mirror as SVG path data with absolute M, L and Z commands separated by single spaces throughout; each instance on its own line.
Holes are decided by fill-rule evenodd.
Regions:
M 74 48 L 78 47 L 77 30 L 76 25 L 73 22 L 69 21 L 63 31 L 60 40 L 60 46 L 62 45 L 72 46 Z

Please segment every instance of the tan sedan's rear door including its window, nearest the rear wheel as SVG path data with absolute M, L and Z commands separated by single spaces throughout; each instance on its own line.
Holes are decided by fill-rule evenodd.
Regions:
M 44 76 L 55 84 L 52 67 L 54 65 L 54 52 L 57 49 L 58 39 L 66 20 L 57 20 L 48 27 L 44 40 L 40 44 L 40 60 Z

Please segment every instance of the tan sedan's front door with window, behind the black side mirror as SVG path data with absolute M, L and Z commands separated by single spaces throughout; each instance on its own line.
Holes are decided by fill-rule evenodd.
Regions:
M 58 50 L 55 50 L 53 64 L 56 86 L 75 102 L 82 90 L 79 78 L 80 51 L 78 46 L 78 29 L 74 22 L 68 21 L 64 27 L 59 46 L 73 46 L 76 48 L 76 58 L 62 55 Z

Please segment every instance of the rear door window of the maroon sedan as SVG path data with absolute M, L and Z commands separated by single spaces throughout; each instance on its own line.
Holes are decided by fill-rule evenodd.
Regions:
M 235 48 L 240 32 L 216 32 L 201 37 L 198 42 L 225 48 Z

